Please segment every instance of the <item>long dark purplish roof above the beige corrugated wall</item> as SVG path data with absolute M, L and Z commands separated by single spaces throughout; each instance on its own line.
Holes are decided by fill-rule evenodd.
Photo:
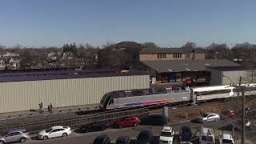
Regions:
M 40 81 L 70 78 L 98 78 L 131 75 L 147 75 L 146 72 L 117 73 L 113 71 L 66 70 L 0 74 L 0 82 Z

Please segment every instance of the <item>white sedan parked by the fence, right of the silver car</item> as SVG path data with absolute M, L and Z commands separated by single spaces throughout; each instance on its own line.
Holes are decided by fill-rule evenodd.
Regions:
M 70 127 L 52 126 L 50 129 L 39 132 L 38 138 L 46 140 L 48 138 L 66 137 L 69 134 L 71 134 Z

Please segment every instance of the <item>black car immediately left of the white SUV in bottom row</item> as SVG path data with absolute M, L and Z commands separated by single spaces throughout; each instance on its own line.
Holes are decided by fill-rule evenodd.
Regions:
M 137 144 L 153 144 L 153 133 L 150 130 L 141 130 L 138 134 Z

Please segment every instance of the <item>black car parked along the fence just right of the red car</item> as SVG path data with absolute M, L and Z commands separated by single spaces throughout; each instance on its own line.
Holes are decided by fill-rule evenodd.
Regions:
M 142 124 L 153 125 L 153 126 L 163 126 L 167 123 L 166 115 L 153 114 L 148 118 L 142 120 Z

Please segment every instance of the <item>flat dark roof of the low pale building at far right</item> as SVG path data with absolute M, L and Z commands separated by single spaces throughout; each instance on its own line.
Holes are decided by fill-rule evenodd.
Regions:
M 220 71 L 256 70 L 256 67 L 248 66 L 209 66 L 207 68 Z

